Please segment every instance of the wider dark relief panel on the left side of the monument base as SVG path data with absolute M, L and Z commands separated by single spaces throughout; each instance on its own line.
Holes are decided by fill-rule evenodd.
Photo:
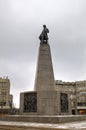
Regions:
M 24 93 L 24 112 L 37 112 L 37 93 Z

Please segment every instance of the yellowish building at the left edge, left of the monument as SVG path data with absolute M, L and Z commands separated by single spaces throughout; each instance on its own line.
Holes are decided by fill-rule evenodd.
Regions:
M 10 95 L 10 80 L 8 77 L 0 78 L 0 109 L 12 108 L 12 95 Z

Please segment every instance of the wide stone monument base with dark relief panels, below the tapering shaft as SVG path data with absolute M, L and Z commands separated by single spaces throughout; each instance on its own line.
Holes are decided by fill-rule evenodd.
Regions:
M 31 91 L 20 94 L 21 115 L 69 115 L 68 105 L 67 94 L 57 91 Z

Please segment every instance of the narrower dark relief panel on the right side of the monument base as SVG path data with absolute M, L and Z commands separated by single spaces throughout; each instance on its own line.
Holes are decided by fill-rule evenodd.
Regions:
M 60 94 L 61 112 L 68 112 L 68 95 L 65 93 Z

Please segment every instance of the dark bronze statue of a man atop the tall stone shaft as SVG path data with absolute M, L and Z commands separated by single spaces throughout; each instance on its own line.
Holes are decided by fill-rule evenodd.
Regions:
M 44 43 L 47 44 L 48 43 L 48 35 L 47 33 L 49 33 L 49 29 L 46 27 L 46 25 L 43 25 L 43 31 L 41 32 L 39 39 L 40 39 L 40 43 Z

